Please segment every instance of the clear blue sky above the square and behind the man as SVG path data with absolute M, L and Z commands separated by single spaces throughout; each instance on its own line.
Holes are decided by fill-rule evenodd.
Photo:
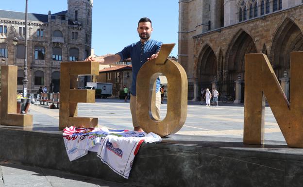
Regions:
M 1 10 L 25 12 L 26 0 L 1 0 Z M 28 12 L 57 13 L 67 10 L 67 0 L 28 0 Z M 178 0 L 94 0 L 92 48 L 95 54 L 117 53 L 139 41 L 136 28 L 141 17 L 152 20 L 152 38 L 175 43 L 178 55 Z

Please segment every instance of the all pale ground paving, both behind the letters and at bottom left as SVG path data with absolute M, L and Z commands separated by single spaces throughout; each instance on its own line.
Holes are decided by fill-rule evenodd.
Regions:
M 166 103 L 161 104 L 162 118 L 166 115 Z M 207 107 L 200 105 L 200 102 L 189 102 L 185 125 L 177 134 L 199 136 L 199 139 L 203 139 L 202 136 L 243 138 L 243 105 L 219 105 Z M 60 133 L 58 109 L 32 104 L 30 114 L 33 115 L 34 125 L 25 127 L 25 130 Z M 265 139 L 285 142 L 269 107 L 266 107 L 265 114 Z M 99 126 L 109 129 L 133 129 L 129 102 L 124 100 L 102 99 L 96 100 L 96 103 L 79 103 L 78 116 L 98 118 Z M 0 187 L 134 187 L 4 161 L 0 161 L 0 179 Z

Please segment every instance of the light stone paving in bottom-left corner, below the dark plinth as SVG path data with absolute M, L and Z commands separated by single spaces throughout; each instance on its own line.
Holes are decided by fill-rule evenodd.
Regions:
M 0 161 L 0 187 L 135 187 Z

